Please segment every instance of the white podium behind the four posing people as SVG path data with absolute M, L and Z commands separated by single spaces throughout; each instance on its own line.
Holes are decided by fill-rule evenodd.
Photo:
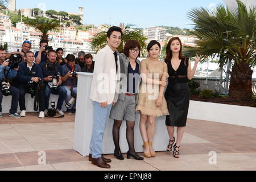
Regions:
M 75 134 L 73 140 L 73 150 L 79 152 L 82 156 L 89 155 L 90 138 L 92 137 L 93 129 L 93 104 L 90 100 L 90 86 L 92 84 L 93 73 L 78 73 L 78 88 L 77 88 L 77 102 L 76 102 L 76 121 Z M 153 142 L 155 151 L 166 151 L 169 141 L 166 123 L 166 117 L 156 118 L 155 121 L 155 138 Z M 134 128 L 135 150 L 143 152 L 142 138 L 139 131 L 140 116 L 137 113 L 136 124 Z M 103 154 L 114 154 L 114 142 L 112 137 L 113 120 L 109 119 L 102 145 Z M 126 140 L 126 123 L 123 122 L 120 129 L 120 148 L 123 153 L 129 150 Z

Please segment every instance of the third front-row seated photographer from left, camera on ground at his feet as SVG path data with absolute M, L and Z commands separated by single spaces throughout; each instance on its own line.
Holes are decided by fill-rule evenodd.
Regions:
M 57 114 L 63 115 L 64 113 L 61 110 L 63 102 L 66 97 L 66 90 L 61 86 L 62 84 L 62 76 L 64 76 L 63 69 L 60 64 L 57 63 L 56 51 L 49 51 L 48 52 L 48 60 L 40 64 L 40 67 L 43 71 L 43 81 L 46 84 L 46 109 L 49 107 L 49 97 L 52 94 L 59 95 L 59 99 L 57 102 Z M 46 114 L 46 113 L 45 113 Z

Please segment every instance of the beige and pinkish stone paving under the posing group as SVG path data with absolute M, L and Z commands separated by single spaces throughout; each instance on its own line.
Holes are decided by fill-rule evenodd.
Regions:
M 88 157 L 72 150 L 75 115 L 39 119 L 28 113 L 21 119 L 0 118 L 0 170 L 2 171 L 241 171 L 256 170 L 256 129 L 224 123 L 188 119 L 179 159 L 170 152 L 155 158 L 113 160 L 112 168 L 93 166 Z M 168 141 L 167 141 L 168 143 Z M 46 152 L 40 164 L 39 151 Z M 209 164 L 210 151 L 217 154 Z M 142 155 L 142 153 L 140 153 Z M 212 161 L 212 160 L 210 160 Z

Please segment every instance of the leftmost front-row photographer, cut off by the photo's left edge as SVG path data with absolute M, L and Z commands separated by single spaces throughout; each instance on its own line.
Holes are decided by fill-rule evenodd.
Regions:
M 2 118 L 2 100 L 4 96 L 13 96 L 11 98 L 11 109 L 9 116 L 14 118 L 20 118 L 17 112 L 19 101 L 19 89 L 14 86 L 10 86 L 9 79 L 14 78 L 17 75 L 19 68 L 11 69 L 9 67 L 9 61 L 6 61 L 6 51 L 4 48 L 0 48 L 0 80 L 1 80 L 1 92 L 0 92 L 0 117 Z

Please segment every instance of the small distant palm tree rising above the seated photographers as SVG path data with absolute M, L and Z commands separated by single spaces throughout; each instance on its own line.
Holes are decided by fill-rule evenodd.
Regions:
M 31 27 L 35 27 L 36 29 L 42 32 L 41 40 L 48 40 L 49 31 L 58 31 L 60 27 L 60 21 L 55 19 L 42 18 L 37 16 L 36 19 L 27 18 L 24 20 L 24 23 L 28 24 Z

